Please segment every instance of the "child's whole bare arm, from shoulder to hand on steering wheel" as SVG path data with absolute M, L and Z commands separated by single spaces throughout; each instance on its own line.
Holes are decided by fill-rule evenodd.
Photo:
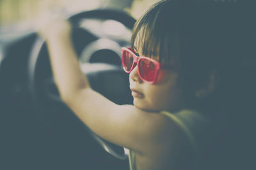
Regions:
M 40 34 L 47 42 L 61 99 L 77 117 L 100 137 L 139 153 L 150 152 L 153 146 L 166 146 L 163 142 L 175 142 L 171 136 L 179 128 L 163 115 L 134 106 L 119 106 L 90 88 L 79 67 L 70 32 L 67 21 L 56 20 Z

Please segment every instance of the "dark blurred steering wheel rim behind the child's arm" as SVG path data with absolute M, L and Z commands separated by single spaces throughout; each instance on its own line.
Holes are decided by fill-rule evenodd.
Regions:
M 100 18 L 100 19 L 106 19 L 106 20 L 107 19 L 116 20 L 124 24 L 129 29 L 132 29 L 134 23 L 136 22 L 134 18 L 129 16 L 127 13 L 124 13 L 124 11 L 109 10 L 109 9 L 84 11 L 81 13 L 77 13 L 76 15 L 72 15 L 71 17 L 68 17 L 68 20 L 70 20 L 72 27 L 76 29 L 79 27 L 79 21 L 85 18 Z M 35 102 L 36 107 L 38 106 L 38 96 L 37 96 L 36 79 L 35 79 L 36 68 L 37 68 L 36 64 L 38 63 L 38 57 L 44 45 L 45 45 L 44 40 L 37 38 L 28 60 L 28 88 L 29 88 L 31 97 L 33 97 L 33 101 Z M 88 129 L 88 131 L 90 131 L 90 129 Z M 110 153 L 111 155 L 113 155 L 118 159 L 127 159 L 127 155 L 128 155 L 127 149 L 124 148 L 124 153 L 120 153 L 118 152 L 118 150 L 116 150 L 117 145 L 109 143 L 108 141 L 100 138 L 99 136 L 94 134 L 94 132 L 92 131 L 90 132 L 92 134 L 92 137 L 100 144 L 100 146 L 102 146 L 102 148 L 104 148 L 104 150 L 106 150 L 106 152 Z

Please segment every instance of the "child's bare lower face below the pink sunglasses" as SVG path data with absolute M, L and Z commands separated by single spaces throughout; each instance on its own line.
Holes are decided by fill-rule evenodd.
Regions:
M 147 111 L 176 111 L 183 107 L 182 90 L 177 84 L 178 73 L 161 70 L 154 84 L 140 79 L 138 67 L 129 75 L 134 106 Z

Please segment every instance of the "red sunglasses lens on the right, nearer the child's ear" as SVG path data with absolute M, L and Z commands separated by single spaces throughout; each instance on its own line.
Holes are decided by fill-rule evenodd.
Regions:
M 156 74 L 156 66 L 154 62 L 147 59 L 141 59 L 138 66 L 139 66 L 141 77 L 144 80 L 154 81 L 154 77 Z

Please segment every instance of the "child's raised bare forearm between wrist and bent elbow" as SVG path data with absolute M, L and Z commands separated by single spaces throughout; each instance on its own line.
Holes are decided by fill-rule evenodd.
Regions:
M 81 72 L 70 34 L 47 39 L 54 80 L 62 99 L 68 99 L 80 90 L 90 87 Z

